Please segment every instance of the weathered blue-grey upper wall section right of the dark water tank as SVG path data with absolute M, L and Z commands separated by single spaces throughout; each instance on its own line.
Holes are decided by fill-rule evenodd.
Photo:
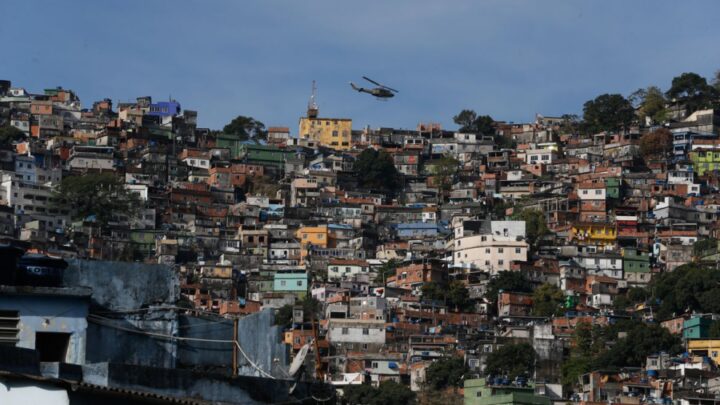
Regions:
M 65 285 L 91 287 L 93 302 L 107 309 L 174 304 L 180 296 L 180 280 L 168 266 L 90 260 L 68 263 Z

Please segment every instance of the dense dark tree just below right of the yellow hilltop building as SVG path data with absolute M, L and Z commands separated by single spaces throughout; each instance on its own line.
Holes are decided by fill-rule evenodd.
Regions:
M 394 191 L 400 184 L 400 174 L 395 168 L 392 156 L 387 152 L 365 149 L 355 159 L 353 171 L 363 188 Z

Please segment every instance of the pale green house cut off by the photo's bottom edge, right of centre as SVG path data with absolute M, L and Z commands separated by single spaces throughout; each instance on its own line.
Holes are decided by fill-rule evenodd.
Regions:
M 484 378 L 465 380 L 465 405 L 550 405 L 550 398 L 535 395 L 533 384 L 494 385 Z

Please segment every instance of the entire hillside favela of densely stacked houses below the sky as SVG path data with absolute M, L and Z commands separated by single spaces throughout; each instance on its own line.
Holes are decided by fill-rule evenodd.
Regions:
M 0 398 L 715 404 L 720 92 L 668 88 L 211 130 L 2 81 Z

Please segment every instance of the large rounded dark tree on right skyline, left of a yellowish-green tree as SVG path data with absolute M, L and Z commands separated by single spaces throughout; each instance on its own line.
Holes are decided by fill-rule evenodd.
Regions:
M 632 104 L 620 94 L 603 94 L 583 106 L 584 124 L 592 133 L 627 129 L 634 118 Z

